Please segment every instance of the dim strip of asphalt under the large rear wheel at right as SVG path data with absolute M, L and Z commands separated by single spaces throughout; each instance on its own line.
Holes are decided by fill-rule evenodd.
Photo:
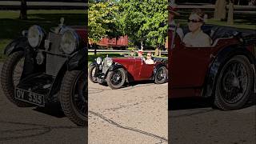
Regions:
M 255 144 L 255 98 L 241 110 L 212 108 L 208 100 L 181 98 L 169 102 L 169 139 L 174 144 Z

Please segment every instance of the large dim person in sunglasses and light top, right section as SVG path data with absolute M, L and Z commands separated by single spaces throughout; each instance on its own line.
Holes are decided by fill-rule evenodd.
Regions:
M 205 34 L 201 30 L 201 26 L 204 24 L 204 14 L 200 9 L 194 9 L 188 19 L 188 26 L 190 33 L 186 34 L 182 42 L 187 47 L 209 47 L 211 39 L 209 35 Z

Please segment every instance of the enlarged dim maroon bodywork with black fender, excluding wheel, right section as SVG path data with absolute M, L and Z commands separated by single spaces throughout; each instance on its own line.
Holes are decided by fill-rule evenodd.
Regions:
M 216 29 L 216 27 L 206 26 L 206 31 L 209 32 L 210 29 Z M 217 78 L 218 71 L 226 60 L 234 55 L 246 55 L 251 65 L 255 66 L 255 31 L 227 26 L 218 26 L 217 28 L 214 34 L 216 38 L 210 47 L 186 47 L 178 36 L 174 38 L 174 46 L 169 47 L 169 98 L 210 97 L 214 94 L 215 78 Z M 239 37 L 231 34 L 234 30 L 240 30 Z M 172 31 L 169 30 L 168 35 L 168 46 L 171 46 Z M 250 35 L 252 35 L 251 38 Z

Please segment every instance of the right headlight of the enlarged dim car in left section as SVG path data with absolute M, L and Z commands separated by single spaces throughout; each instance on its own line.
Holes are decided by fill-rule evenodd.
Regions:
M 71 54 L 78 47 L 78 34 L 73 30 L 66 30 L 62 36 L 61 50 L 66 54 Z

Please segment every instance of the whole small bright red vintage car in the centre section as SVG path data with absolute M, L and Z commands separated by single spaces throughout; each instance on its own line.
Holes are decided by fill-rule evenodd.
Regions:
M 154 64 L 146 64 L 142 58 L 102 58 L 90 65 L 91 82 L 107 83 L 112 89 L 118 89 L 126 82 L 154 80 L 162 84 L 167 80 L 167 61 L 154 58 Z

